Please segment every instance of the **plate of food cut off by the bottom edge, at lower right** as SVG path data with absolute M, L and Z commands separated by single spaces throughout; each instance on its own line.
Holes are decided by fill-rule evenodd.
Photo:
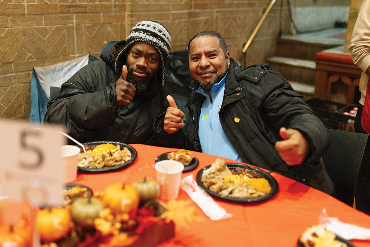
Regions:
M 298 239 L 298 247 L 354 247 L 351 241 L 327 231 L 323 225 L 316 225 L 302 234 Z

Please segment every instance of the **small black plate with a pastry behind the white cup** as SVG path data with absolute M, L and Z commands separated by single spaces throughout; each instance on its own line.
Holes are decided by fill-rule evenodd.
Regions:
M 177 152 L 176 151 L 167 152 L 155 158 L 155 162 L 158 162 L 161 160 L 179 161 L 184 165 L 184 171 L 193 170 L 195 167 L 199 165 L 199 160 L 191 153 L 191 151 L 186 150 L 186 149 L 180 149 Z

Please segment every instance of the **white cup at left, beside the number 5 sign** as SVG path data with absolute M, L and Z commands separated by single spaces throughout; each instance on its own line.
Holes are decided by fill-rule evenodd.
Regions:
M 60 147 L 60 151 L 65 169 L 63 182 L 68 183 L 77 177 L 77 155 L 80 153 L 80 148 L 73 145 L 65 145 Z

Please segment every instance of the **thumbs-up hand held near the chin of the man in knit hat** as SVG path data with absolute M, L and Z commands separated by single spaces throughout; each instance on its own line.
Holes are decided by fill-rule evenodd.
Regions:
M 122 73 L 120 78 L 116 81 L 116 103 L 117 105 L 128 106 L 135 97 L 136 88 L 134 85 L 126 81 L 127 78 L 127 66 L 122 67 Z

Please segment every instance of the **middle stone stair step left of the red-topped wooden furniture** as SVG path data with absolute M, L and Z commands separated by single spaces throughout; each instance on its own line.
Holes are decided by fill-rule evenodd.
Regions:
M 316 79 L 314 61 L 277 56 L 269 57 L 267 61 L 273 70 L 280 72 L 288 81 L 300 81 L 314 86 Z

